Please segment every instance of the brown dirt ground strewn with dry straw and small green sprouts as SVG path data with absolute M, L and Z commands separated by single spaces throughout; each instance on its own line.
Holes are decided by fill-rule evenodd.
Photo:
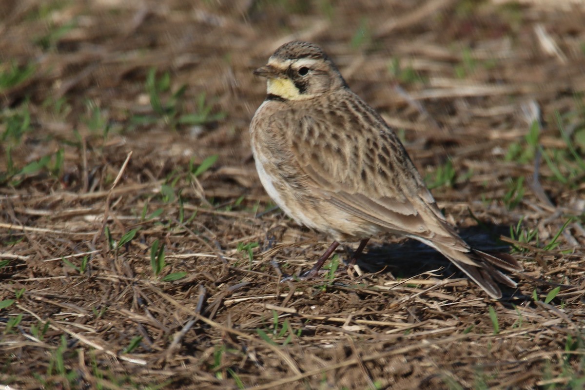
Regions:
M 583 388 L 585 176 L 558 124 L 583 158 L 579 2 L 4 0 L 0 15 L 2 71 L 35 66 L 0 89 L 0 172 L 9 150 L 19 169 L 59 150 L 64 161 L 0 187 L 0 302 L 14 300 L 0 310 L 0 384 Z M 292 39 L 325 47 L 424 175 L 450 156 L 456 180 L 433 194 L 472 244 L 522 249 L 517 291 L 488 299 L 439 254 L 393 236 L 371 241 L 362 268 L 374 274 L 279 282 L 328 245 L 270 210 L 249 147 L 264 97 L 251 71 Z M 151 68 L 157 80 L 168 72 L 171 92 L 185 85 L 176 112 L 153 110 Z M 180 123 L 201 112 L 202 93 L 225 118 Z M 542 155 L 569 156 L 564 181 L 529 150 L 529 108 Z M 25 111 L 29 128 L 6 135 Z M 506 160 L 511 145 L 528 157 Z M 189 174 L 192 158 L 212 155 Z M 524 195 L 508 207 L 519 178 Z M 510 239 L 522 218 L 538 241 Z M 139 230 L 116 250 L 104 226 L 112 240 Z M 162 279 L 173 272 L 185 276 Z

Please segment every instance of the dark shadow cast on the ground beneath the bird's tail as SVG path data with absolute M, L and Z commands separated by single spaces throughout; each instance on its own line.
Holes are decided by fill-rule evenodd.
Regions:
M 510 233 L 510 226 L 484 224 L 459 230 L 471 247 L 491 252 L 508 252 L 510 246 L 498 237 Z M 444 268 L 443 277 L 467 277 L 448 258 L 420 241 L 408 239 L 400 243 L 369 244 L 357 264 L 367 272 L 391 272 L 396 278 L 410 278 L 423 272 Z

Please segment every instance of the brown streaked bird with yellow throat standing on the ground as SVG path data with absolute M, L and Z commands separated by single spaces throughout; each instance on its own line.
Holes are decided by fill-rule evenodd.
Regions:
M 253 74 L 267 83 L 249 128 L 260 182 L 295 222 L 333 238 L 305 276 L 342 241 L 360 241 L 353 265 L 371 237 L 393 233 L 439 251 L 494 299 L 502 297 L 498 284 L 517 287 L 503 271 L 522 265 L 456 233 L 394 130 L 321 47 L 285 43 Z

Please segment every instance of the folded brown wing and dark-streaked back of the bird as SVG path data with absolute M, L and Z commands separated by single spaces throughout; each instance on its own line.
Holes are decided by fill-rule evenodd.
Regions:
M 313 191 L 382 229 L 469 250 L 446 223 L 400 140 L 365 103 L 305 115 L 296 126 L 289 132 L 295 163 Z

